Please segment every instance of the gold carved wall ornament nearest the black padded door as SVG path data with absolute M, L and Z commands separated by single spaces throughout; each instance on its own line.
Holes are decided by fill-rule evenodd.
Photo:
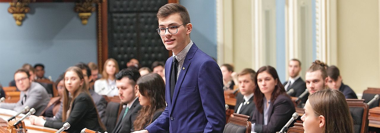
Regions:
M 93 4 L 96 3 L 99 3 L 99 0 L 79 0 L 79 2 L 75 3 L 74 11 L 78 12 L 83 25 L 87 24 L 91 12 L 95 11 L 96 8 Z

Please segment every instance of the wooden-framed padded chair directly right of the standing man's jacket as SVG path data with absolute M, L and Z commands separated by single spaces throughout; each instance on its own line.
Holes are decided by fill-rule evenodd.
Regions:
M 223 133 L 250 133 L 252 124 L 250 116 L 233 113 L 224 127 Z

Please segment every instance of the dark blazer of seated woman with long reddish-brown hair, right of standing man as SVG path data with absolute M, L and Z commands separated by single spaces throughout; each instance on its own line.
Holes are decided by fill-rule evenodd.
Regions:
M 264 125 L 264 114 L 259 111 L 253 113 L 252 123 L 255 123 L 256 133 L 274 133 L 280 131 L 283 126 L 289 121 L 293 113 L 296 112 L 294 104 L 290 97 L 286 94 L 280 94 L 274 102 L 269 106 L 268 124 Z M 293 125 L 290 125 L 291 127 Z

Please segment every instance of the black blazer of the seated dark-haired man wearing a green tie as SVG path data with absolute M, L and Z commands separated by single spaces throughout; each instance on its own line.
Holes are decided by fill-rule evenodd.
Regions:
M 123 108 L 123 110 L 120 112 L 119 120 L 117 121 L 117 124 L 112 133 L 130 133 L 134 131 L 133 122 L 135 121 L 136 116 L 138 116 L 138 111 L 141 109 L 139 99 L 137 98 L 135 102 L 133 102 L 131 108 L 128 110 L 123 119 L 125 108 Z

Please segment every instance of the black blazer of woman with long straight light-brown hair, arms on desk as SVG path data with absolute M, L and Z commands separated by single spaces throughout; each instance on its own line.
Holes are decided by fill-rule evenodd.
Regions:
M 74 99 L 71 113 L 65 122 L 46 120 L 44 126 L 59 129 L 64 123 L 69 122 L 71 127 L 65 130 L 68 133 L 80 133 L 83 128 L 104 132 L 98 121 L 100 120 L 91 96 L 82 92 Z

